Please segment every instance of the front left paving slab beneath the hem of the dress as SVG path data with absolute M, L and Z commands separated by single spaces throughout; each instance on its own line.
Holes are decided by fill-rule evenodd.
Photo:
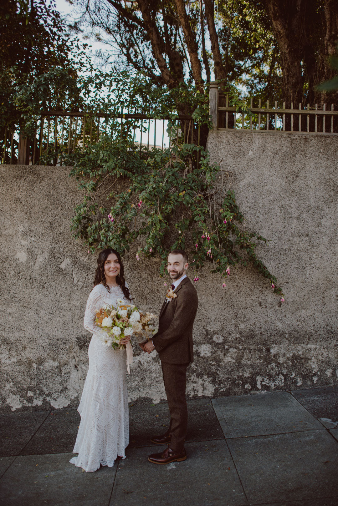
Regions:
M 68 462 L 72 456 L 61 453 L 17 457 L 0 480 L 0 504 L 107 506 L 117 465 L 84 473 Z

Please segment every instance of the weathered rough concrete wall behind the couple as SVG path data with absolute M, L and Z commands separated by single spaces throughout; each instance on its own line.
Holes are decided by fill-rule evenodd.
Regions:
M 337 137 L 213 132 L 213 161 L 233 171 L 246 227 L 271 240 L 259 254 L 285 303 L 255 270 L 227 288 L 205 269 L 197 287 L 190 397 L 338 384 Z M 81 199 L 67 167 L 0 166 L 1 410 L 77 406 L 90 341 L 83 315 L 96 258 L 72 239 Z M 159 312 L 157 262 L 125 257 L 136 303 Z M 165 399 L 158 356 L 136 347 L 131 400 Z

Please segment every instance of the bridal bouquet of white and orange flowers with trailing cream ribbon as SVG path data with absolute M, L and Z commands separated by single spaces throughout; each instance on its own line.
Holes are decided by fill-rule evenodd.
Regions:
M 102 307 L 95 317 L 95 323 L 99 327 L 98 338 L 105 347 L 112 346 L 115 350 L 126 349 L 127 371 L 130 374 L 129 365 L 133 361 L 133 347 L 130 341 L 126 345 L 120 342 L 122 339 L 133 333 L 144 331 L 147 339 L 151 338 L 156 331 L 154 325 L 149 322 L 156 318 L 153 313 L 143 314 L 133 304 L 125 304 L 122 299 L 117 299 L 116 307 L 112 304 L 106 304 Z

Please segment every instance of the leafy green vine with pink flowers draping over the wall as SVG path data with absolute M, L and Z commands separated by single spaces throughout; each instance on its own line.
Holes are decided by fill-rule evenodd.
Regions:
M 207 123 L 207 99 L 199 100 L 195 121 Z M 72 219 L 74 237 L 83 239 L 91 252 L 113 247 L 123 255 L 137 244 L 137 260 L 161 258 L 161 275 L 170 249 L 190 250 L 195 281 L 206 264 L 224 277 L 237 264 L 252 264 L 283 302 L 276 277 L 256 254 L 257 244 L 267 239 L 245 229 L 231 172 L 211 165 L 203 147 L 184 144 L 176 117 L 172 114 L 168 122 L 168 133 L 177 139 L 170 149 L 140 149 L 127 131 L 124 138 L 118 133 L 101 136 L 78 155 L 71 175 L 85 196 Z

